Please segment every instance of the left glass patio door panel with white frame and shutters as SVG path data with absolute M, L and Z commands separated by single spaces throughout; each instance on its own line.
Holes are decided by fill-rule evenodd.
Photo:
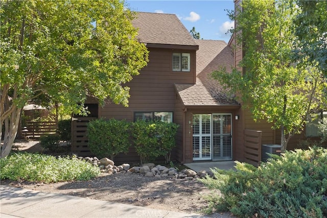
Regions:
M 211 160 L 211 114 L 193 114 L 193 160 Z

